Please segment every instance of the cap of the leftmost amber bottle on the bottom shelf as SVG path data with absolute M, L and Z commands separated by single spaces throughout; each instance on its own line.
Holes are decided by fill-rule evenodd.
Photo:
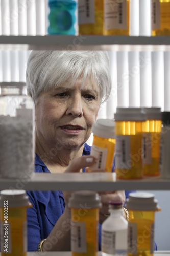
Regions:
M 4 207 L 5 201 L 8 201 L 8 208 L 24 207 L 31 204 L 25 190 L 2 190 L 0 207 Z

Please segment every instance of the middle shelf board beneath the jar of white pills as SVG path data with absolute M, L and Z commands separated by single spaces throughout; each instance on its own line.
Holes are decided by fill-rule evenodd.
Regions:
M 25 182 L 22 179 L 0 179 L 1 189 L 25 190 L 168 190 L 170 180 L 159 177 L 142 180 L 115 180 L 115 173 L 35 173 Z

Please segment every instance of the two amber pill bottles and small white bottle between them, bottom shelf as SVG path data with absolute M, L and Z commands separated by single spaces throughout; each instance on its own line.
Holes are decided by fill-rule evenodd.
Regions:
M 100 196 L 95 191 L 76 191 L 68 206 L 71 208 L 72 256 L 97 256 Z M 130 193 L 125 205 L 129 216 L 126 219 L 122 201 L 110 201 L 108 207 L 110 215 L 101 228 L 102 256 L 152 256 L 155 212 L 160 210 L 154 194 Z

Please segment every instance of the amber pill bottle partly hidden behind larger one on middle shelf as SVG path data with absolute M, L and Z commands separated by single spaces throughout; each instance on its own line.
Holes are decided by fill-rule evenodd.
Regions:
M 143 108 L 147 121 L 143 122 L 143 175 L 160 174 L 161 108 Z

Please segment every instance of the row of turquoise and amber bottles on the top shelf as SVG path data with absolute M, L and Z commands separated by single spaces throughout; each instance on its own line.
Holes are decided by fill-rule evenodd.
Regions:
M 170 35 L 170 1 L 149 1 L 151 35 Z M 49 0 L 48 33 L 130 35 L 133 4 L 132 0 Z M 136 20 L 136 24 L 138 22 Z

